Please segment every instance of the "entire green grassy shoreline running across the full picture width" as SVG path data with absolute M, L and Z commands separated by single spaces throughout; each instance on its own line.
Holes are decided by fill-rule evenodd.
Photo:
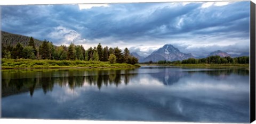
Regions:
M 141 66 L 168 66 L 173 68 L 246 68 L 250 64 L 127 64 L 109 61 L 84 60 L 35 60 L 35 59 L 2 59 L 1 69 L 72 69 L 72 68 L 139 68 Z

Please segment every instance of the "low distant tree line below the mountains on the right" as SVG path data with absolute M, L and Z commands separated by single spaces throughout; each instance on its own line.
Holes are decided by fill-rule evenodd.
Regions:
M 242 57 L 220 57 L 220 56 L 210 56 L 207 58 L 189 58 L 185 60 L 177 60 L 177 61 L 166 61 L 160 60 L 157 62 L 148 61 L 143 64 L 249 64 L 249 57 L 242 56 Z

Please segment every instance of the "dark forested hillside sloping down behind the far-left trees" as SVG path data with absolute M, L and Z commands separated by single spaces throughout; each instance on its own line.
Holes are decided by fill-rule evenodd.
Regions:
M 28 36 L 1 31 L 1 43 L 3 46 L 15 46 L 18 42 L 20 42 L 23 46 L 28 46 L 29 39 L 30 37 Z M 43 43 L 43 41 L 37 39 L 34 39 L 34 42 L 36 47 L 39 47 Z

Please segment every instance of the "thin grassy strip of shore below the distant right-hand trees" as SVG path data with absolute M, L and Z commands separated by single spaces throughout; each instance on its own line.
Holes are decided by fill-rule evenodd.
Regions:
M 140 64 L 143 65 L 158 65 L 158 66 L 173 66 L 173 67 L 204 67 L 204 68 L 223 68 L 223 67 L 243 67 L 249 68 L 249 64 Z

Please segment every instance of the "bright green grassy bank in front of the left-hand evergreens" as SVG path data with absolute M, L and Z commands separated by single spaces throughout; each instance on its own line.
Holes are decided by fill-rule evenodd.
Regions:
M 126 63 L 110 64 L 108 61 L 83 61 L 83 60 L 33 60 L 33 59 L 2 59 L 2 69 L 22 68 L 134 68 L 139 65 Z

